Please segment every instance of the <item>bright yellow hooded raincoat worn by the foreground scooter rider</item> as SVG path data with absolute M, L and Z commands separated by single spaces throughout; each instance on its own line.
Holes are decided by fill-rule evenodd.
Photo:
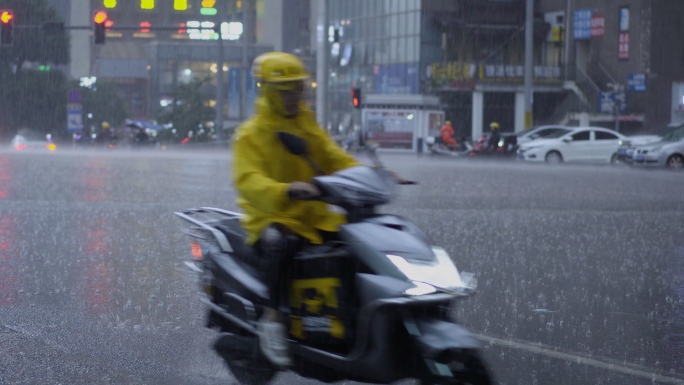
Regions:
M 272 223 L 281 223 L 311 242 L 321 243 L 318 230 L 337 231 L 345 222 L 342 214 L 330 211 L 325 203 L 291 200 L 287 195 L 291 182 L 310 182 L 316 173 L 304 159 L 288 152 L 278 140 L 278 131 L 303 138 L 311 159 L 326 174 L 358 165 L 316 124 L 305 103 L 301 105 L 297 117 L 287 119 L 261 96 L 257 114 L 237 130 L 233 178 L 250 245 Z

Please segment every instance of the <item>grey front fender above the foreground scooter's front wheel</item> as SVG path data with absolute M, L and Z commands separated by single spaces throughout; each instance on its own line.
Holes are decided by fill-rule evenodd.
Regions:
M 482 348 L 473 333 L 453 322 L 405 317 L 404 326 L 421 356 L 435 361 L 440 361 L 445 352 Z

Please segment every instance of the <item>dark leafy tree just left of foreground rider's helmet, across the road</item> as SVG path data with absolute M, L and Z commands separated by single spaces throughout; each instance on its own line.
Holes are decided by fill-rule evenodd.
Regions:
M 192 131 L 193 137 L 201 138 L 199 131 L 208 133 L 209 129 L 203 127 L 207 122 L 213 123 L 216 116 L 214 109 L 209 106 L 211 97 L 203 90 L 207 88 L 209 81 L 209 78 L 194 78 L 189 83 L 178 85 L 172 92 L 171 104 L 159 111 L 160 123 L 173 124 L 176 130 L 174 137 L 183 139 Z

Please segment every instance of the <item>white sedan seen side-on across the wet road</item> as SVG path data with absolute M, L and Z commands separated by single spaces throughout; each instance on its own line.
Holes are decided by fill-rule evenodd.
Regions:
M 578 127 L 525 143 L 518 159 L 531 162 L 614 163 L 624 135 L 601 127 Z

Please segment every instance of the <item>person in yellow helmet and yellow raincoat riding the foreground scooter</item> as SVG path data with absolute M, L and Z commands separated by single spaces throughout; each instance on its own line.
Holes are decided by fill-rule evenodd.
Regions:
M 261 350 L 273 364 L 289 366 L 285 327 L 278 311 L 281 288 L 294 254 L 305 242 L 321 243 L 324 232 L 336 232 L 344 217 L 325 203 L 292 200 L 291 194 L 319 194 L 310 184 L 316 175 L 300 156 L 279 141 L 284 131 L 306 141 L 309 156 L 324 173 L 358 165 L 316 124 L 302 100 L 309 78 L 296 57 L 271 52 L 257 57 L 252 72 L 261 94 L 254 117 L 242 124 L 233 144 L 233 177 L 247 243 L 267 260 L 265 284 L 269 304 L 258 324 Z

